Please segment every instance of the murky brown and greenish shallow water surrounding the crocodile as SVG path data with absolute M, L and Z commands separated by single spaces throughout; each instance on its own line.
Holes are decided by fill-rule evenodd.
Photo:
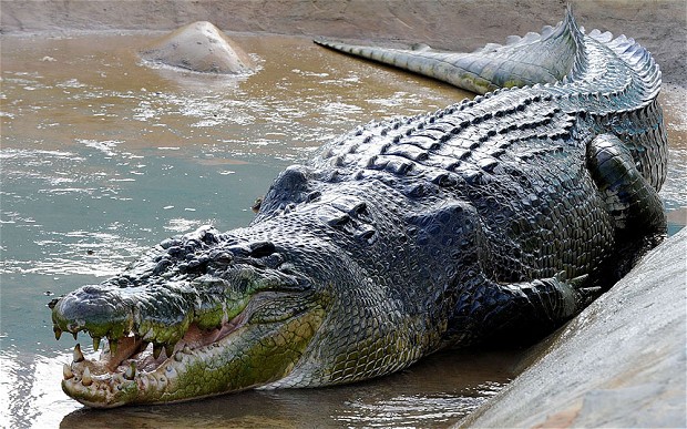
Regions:
M 360 123 L 469 95 L 303 39 L 235 39 L 258 73 L 145 68 L 135 51 L 150 35 L 1 39 L 0 426 L 443 427 L 512 377 L 517 355 L 504 351 L 439 355 L 352 386 L 116 412 L 62 394 L 74 341 L 54 340 L 51 296 L 115 274 L 171 235 L 246 225 L 279 171 Z M 663 192 L 675 231 L 687 214 L 687 121 L 679 94 L 664 98 L 677 143 Z

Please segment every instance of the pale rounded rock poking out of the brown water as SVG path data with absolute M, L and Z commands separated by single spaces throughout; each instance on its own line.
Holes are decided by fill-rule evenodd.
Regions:
M 248 54 L 207 21 L 182 27 L 140 54 L 154 64 L 201 73 L 239 74 L 255 68 Z

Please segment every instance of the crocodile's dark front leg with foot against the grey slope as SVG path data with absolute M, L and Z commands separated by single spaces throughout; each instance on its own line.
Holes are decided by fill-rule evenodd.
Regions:
M 453 296 L 444 346 L 537 339 L 580 313 L 599 295 L 597 278 L 588 275 L 570 278 L 570 274 L 561 270 L 553 276 L 537 277 L 533 274 L 526 279 L 507 278 L 510 274 L 493 264 L 495 249 L 485 238 L 488 231 L 483 223 L 474 222 L 480 219 L 478 211 L 465 203 L 454 206 L 447 205 L 437 211 L 432 217 L 434 224 L 425 225 L 428 229 L 437 231 L 437 223 L 448 217 L 442 214 L 451 208 L 455 210 L 459 206 L 462 208 L 460 215 L 444 222 L 444 227 L 440 229 L 460 231 L 460 243 L 469 243 L 462 246 L 460 269 L 455 270 L 452 280 L 460 287 Z M 540 268 L 556 269 L 553 266 Z

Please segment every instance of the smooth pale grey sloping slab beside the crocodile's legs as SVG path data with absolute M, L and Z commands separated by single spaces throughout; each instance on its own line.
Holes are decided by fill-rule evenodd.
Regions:
M 461 427 L 687 427 L 687 228 L 539 346 Z

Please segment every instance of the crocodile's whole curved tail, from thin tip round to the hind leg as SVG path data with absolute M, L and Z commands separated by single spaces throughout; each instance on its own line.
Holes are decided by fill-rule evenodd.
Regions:
M 648 51 L 625 35 L 614 39 L 598 30 L 585 35 L 570 8 L 555 28 L 511 37 L 504 45 L 490 43 L 472 53 L 317 43 L 490 96 L 507 88 L 519 88 L 523 100 L 526 93 L 539 94 L 566 113 L 592 118 L 592 134 L 617 135 L 656 190 L 665 181 L 667 143 L 656 101 L 658 65 Z M 501 96 L 505 100 L 500 104 L 517 103 L 517 96 Z M 480 108 L 500 113 L 489 103 Z

